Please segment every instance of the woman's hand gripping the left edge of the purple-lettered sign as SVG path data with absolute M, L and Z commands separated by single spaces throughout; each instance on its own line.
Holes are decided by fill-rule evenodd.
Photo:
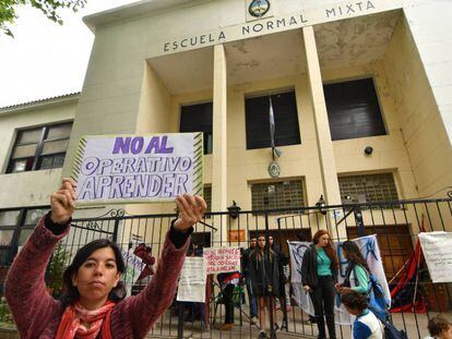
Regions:
M 64 178 L 61 187 L 50 195 L 50 219 L 57 223 L 66 223 L 75 210 L 76 183 L 70 178 Z

